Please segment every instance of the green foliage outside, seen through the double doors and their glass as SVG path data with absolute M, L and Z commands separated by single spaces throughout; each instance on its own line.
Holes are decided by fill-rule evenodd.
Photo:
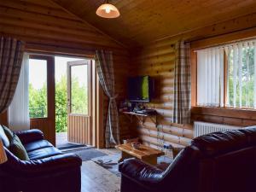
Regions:
M 72 113 L 87 114 L 87 87 L 79 84 L 78 79 L 72 79 Z M 46 84 L 36 90 L 29 84 L 29 115 L 30 118 L 47 117 L 47 89 Z M 56 132 L 67 132 L 67 77 L 55 83 L 55 120 Z

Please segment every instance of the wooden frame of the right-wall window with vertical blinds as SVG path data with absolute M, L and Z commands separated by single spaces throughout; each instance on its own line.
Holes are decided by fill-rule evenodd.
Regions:
M 213 36 L 192 40 L 190 42 L 190 64 L 191 64 L 191 119 L 215 122 L 229 125 L 255 125 L 256 109 L 253 108 L 227 108 L 227 107 L 201 107 L 196 106 L 197 98 L 197 55 L 196 49 L 206 49 L 213 46 L 230 44 L 242 40 L 256 38 L 256 30 L 253 32 L 230 32 L 224 35 Z M 226 56 L 226 55 L 225 55 Z M 225 61 L 226 58 L 225 58 Z M 227 63 L 225 63 L 227 65 Z M 226 70 L 227 68 L 225 68 Z M 227 79 L 225 78 L 225 81 Z M 226 82 L 225 82 L 226 86 Z M 226 91 L 226 88 L 225 88 Z M 224 93 L 226 97 L 226 92 Z

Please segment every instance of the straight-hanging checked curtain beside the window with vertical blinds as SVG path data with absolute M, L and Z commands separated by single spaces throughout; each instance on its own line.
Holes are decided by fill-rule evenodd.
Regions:
M 175 47 L 173 123 L 190 122 L 190 45 L 183 41 Z

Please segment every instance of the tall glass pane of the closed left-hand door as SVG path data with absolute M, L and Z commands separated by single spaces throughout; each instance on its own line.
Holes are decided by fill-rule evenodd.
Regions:
M 47 61 L 29 59 L 29 116 L 45 118 L 47 110 Z

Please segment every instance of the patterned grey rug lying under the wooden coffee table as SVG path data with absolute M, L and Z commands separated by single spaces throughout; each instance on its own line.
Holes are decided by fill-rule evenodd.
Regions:
M 113 172 L 118 177 L 121 177 L 121 173 L 119 172 L 119 164 L 118 160 L 120 159 L 121 154 L 112 154 L 112 155 L 105 155 L 101 157 L 96 157 L 91 160 L 93 160 L 96 164 L 99 166 L 102 166 L 105 169 L 108 169 L 109 172 Z M 160 156 L 157 159 L 158 164 L 171 164 L 172 163 L 172 158 L 167 157 L 167 156 Z

